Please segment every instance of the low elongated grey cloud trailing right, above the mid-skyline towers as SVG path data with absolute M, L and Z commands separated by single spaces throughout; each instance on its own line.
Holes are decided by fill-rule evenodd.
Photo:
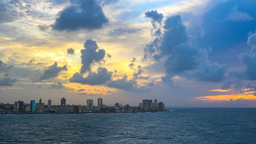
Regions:
M 117 79 L 116 81 L 110 81 L 109 83 L 107 83 L 107 86 L 111 88 L 117 88 L 117 89 L 129 91 L 129 92 L 137 92 L 137 93 L 146 93 L 151 91 L 151 88 L 136 86 L 137 81 L 135 80 L 128 81 L 127 78 L 128 77 L 125 75 L 122 79 Z

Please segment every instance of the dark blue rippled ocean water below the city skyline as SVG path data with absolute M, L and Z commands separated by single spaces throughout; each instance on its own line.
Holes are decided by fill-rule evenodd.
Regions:
M 256 143 L 256 108 L 0 115 L 0 143 Z

